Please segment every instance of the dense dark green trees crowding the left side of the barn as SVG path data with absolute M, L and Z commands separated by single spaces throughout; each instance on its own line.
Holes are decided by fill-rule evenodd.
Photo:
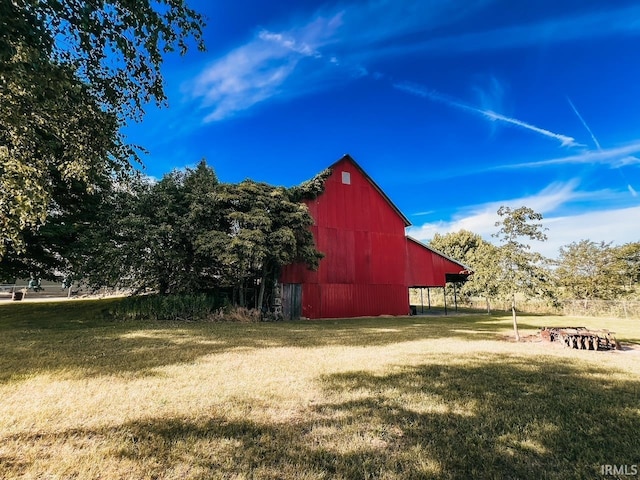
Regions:
M 133 175 L 99 192 L 81 190 L 82 202 L 24 232 L 24 250 L 5 255 L 0 272 L 134 293 L 222 291 L 234 304 L 260 307 L 282 266 L 318 267 L 322 254 L 302 200 L 322 193 L 329 174 L 293 188 L 222 183 L 202 160 L 157 182 Z

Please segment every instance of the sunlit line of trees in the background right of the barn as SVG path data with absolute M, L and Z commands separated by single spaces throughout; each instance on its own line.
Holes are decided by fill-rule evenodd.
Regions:
M 502 218 L 495 235 L 498 245 L 468 230 L 436 233 L 429 242 L 473 269 L 474 274 L 462 287 L 464 295 L 482 297 L 490 308 L 492 298 L 510 297 L 514 286 L 520 294 L 550 302 L 616 300 L 640 294 L 640 242 L 613 245 L 582 239 L 562 246 L 558 257 L 549 259 L 531 251 L 528 244 L 528 240 L 546 239 L 541 224 L 535 223 L 541 215 L 526 207 L 501 207 L 498 214 Z M 514 227 L 527 223 L 528 232 Z

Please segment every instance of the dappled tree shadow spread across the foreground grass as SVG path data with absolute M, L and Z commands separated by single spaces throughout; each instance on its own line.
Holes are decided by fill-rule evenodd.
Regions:
M 326 376 L 324 403 L 290 422 L 214 411 L 9 441 L 99 438 L 105 462 L 148 478 L 584 479 L 638 463 L 639 382 L 566 360 L 467 360 Z

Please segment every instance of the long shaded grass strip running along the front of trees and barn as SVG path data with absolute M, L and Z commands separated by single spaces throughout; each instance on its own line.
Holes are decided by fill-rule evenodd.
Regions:
M 118 300 L 0 308 L 0 382 L 39 373 L 146 376 L 154 368 L 249 348 L 380 346 L 423 339 L 496 338 L 487 317 L 393 317 L 278 323 L 115 322 Z M 480 318 L 480 322 L 479 319 Z

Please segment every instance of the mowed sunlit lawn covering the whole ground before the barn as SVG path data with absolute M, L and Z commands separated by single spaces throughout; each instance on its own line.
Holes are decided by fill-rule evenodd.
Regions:
M 0 305 L 0 478 L 586 479 L 640 465 L 638 345 L 516 344 L 508 315 L 115 322 L 113 301 Z M 520 324 L 640 343 L 637 319 Z

